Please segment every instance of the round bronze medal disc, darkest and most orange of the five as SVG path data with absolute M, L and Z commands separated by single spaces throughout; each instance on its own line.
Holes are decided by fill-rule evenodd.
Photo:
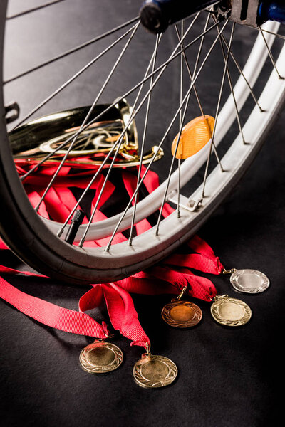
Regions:
M 202 310 L 192 302 L 175 300 L 163 307 L 162 319 L 173 327 L 192 327 L 202 319 Z

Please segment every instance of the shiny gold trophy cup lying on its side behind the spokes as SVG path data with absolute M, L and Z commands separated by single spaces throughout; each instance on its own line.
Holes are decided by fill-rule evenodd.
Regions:
M 132 112 L 126 100 L 121 100 L 115 106 L 110 107 L 107 112 L 104 112 L 107 107 L 109 105 L 96 105 L 94 107 L 88 122 L 103 113 L 100 116 L 100 121 L 94 122 L 78 135 L 73 148 L 68 153 L 65 166 L 81 169 L 100 167 L 106 155 L 118 141 L 123 129 L 128 125 Z M 73 135 L 76 135 L 76 132 L 80 130 L 89 110 L 90 107 L 78 107 L 73 110 L 56 112 L 32 120 L 11 131 L 9 141 L 15 163 L 20 167 L 33 167 L 57 149 L 45 161 L 45 164 L 58 166 L 73 142 Z M 66 144 L 64 144 L 65 142 Z M 64 145 L 60 148 L 62 144 Z M 115 149 L 105 162 L 105 168 L 110 167 L 114 153 Z M 163 150 L 154 146 L 149 152 L 142 155 L 142 164 L 149 163 L 155 153 L 157 153 L 155 161 L 163 156 Z M 140 164 L 138 133 L 133 120 L 125 132 L 113 167 L 134 167 L 138 164 Z

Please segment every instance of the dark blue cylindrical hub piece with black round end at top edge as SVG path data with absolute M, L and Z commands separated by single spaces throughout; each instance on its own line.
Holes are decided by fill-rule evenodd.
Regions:
M 162 33 L 170 25 L 187 18 L 219 0 L 146 0 L 140 8 L 140 20 L 152 33 Z

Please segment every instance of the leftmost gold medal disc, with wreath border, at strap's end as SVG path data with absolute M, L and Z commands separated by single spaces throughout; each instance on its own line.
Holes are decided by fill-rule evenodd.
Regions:
M 104 374 L 120 366 L 123 352 L 110 342 L 95 341 L 82 350 L 79 362 L 84 371 L 90 374 Z

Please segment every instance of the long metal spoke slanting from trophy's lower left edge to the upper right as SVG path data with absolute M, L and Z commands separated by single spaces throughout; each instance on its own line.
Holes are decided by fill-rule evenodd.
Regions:
M 197 17 L 195 17 L 195 19 L 197 19 Z M 194 23 L 195 19 L 192 21 L 192 24 Z M 192 26 L 192 24 L 191 24 L 191 26 Z M 207 33 L 209 33 L 209 31 L 212 31 L 213 28 L 216 28 L 217 25 L 218 25 L 218 23 L 215 23 L 213 26 L 209 27 L 206 31 L 204 31 L 204 33 L 200 34 L 199 36 L 197 36 L 197 38 L 195 38 L 190 43 L 188 43 L 185 46 L 185 48 L 183 48 L 183 50 L 186 51 L 187 48 L 190 48 L 190 46 L 192 46 L 193 44 L 195 44 L 202 37 L 204 37 Z M 188 30 L 189 30 L 189 28 L 187 29 L 187 31 Z M 183 37 L 185 37 L 185 36 L 186 36 L 186 33 L 185 33 L 185 35 Z M 177 51 L 177 49 L 179 47 L 180 47 L 180 43 L 175 48 L 175 51 Z M 56 154 L 56 152 L 58 152 L 60 149 L 63 149 L 63 147 L 65 147 L 66 144 L 68 144 L 68 142 L 71 142 L 71 139 L 73 139 L 73 137 L 76 137 L 77 135 L 81 134 L 86 129 L 88 129 L 88 127 L 90 127 L 90 125 L 93 125 L 94 122 L 98 121 L 98 119 L 100 117 L 102 117 L 106 112 L 108 112 L 111 108 L 113 108 L 118 102 L 120 102 L 120 100 L 123 100 L 123 98 L 128 97 L 128 95 L 130 95 L 131 93 L 133 93 L 136 89 L 140 88 L 140 86 L 143 83 L 145 83 L 147 80 L 149 80 L 150 78 L 152 78 L 152 75 L 155 75 L 159 71 L 163 72 L 165 70 L 165 68 L 167 67 L 167 65 L 170 64 L 173 60 L 175 60 L 177 58 L 177 56 L 179 56 L 180 54 L 181 54 L 180 52 L 175 53 L 175 54 L 172 53 L 172 55 L 170 56 L 170 58 L 168 60 L 166 60 L 165 63 L 162 63 L 162 65 L 160 65 L 158 68 L 156 68 L 155 71 L 153 71 L 152 73 L 150 73 L 150 75 L 147 75 L 146 78 L 144 78 L 139 83 L 137 83 L 135 86 L 133 86 L 133 88 L 131 88 L 130 90 L 128 90 L 128 92 L 126 92 L 123 96 L 117 98 L 112 104 L 110 104 L 107 108 L 105 108 L 105 110 L 103 110 L 103 112 L 100 112 L 100 114 L 98 116 L 96 116 L 93 120 L 90 120 L 90 122 L 88 122 L 83 127 L 83 129 L 81 131 L 77 131 L 72 137 L 66 139 L 66 141 L 64 141 L 62 144 L 60 144 L 58 147 L 56 147 L 56 149 L 54 149 L 53 152 L 51 152 L 48 155 L 46 155 L 46 157 L 44 157 L 40 162 L 38 162 L 38 164 L 36 164 L 36 166 L 34 166 L 33 168 L 31 168 L 28 172 L 26 172 L 26 174 L 24 174 L 23 176 L 21 176 L 21 180 L 23 181 L 24 179 L 26 179 L 26 177 L 28 175 L 32 174 L 44 162 L 46 162 L 48 159 L 50 159 L 51 157 L 53 157 L 53 155 Z

